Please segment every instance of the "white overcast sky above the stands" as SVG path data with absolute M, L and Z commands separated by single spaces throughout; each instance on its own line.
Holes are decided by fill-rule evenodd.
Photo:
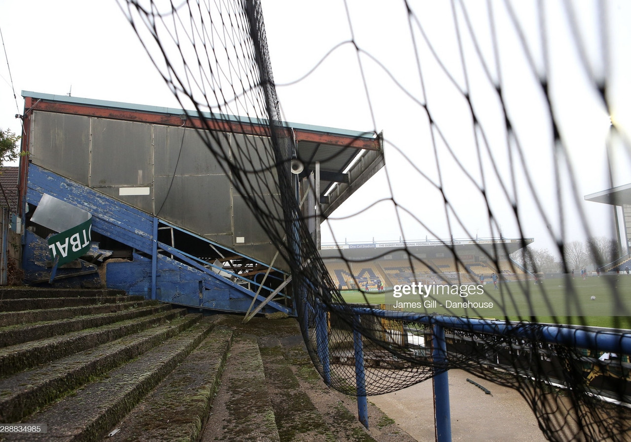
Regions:
M 449 2 L 411 2 L 415 15 L 410 21 L 403 3 L 396 1 L 262 0 L 284 118 L 383 132 L 386 139 L 386 168 L 334 218 L 365 212 L 331 220 L 334 234 L 325 226 L 323 241 L 333 237 L 355 242 L 416 240 L 450 234 L 490 237 L 498 236 L 500 228 L 504 237 L 518 237 L 513 205 L 518 207 L 523 234 L 534 237 L 539 247 L 553 249 L 559 238 L 584 239 L 586 230 L 575 222 L 579 211 L 584 212 L 592 234 L 613 234 L 610 208 L 582 201 L 584 195 L 609 186 L 608 110 L 577 56 L 577 40 L 563 3 L 544 3 L 545 33 L 537 23 L 535 2 L 522 1 L 515 8 L 528 57 L 538 75 L 548 72 L 553 110 L 565 140 L 562 149 L 551 144 L 546 101 L 502 2 L 492 2 L 493 26 L 485 4 L 475 2 L 473 8 L 465 3 L 480 44 L 477 52 L 459 2 L 456 31 Z M 569 2 L 577 6 L 574 12 L 589 71 L 607 78 L 612 119 L 627 134 L 631 127 L 629 3 L 606 3 L 608 33 L 603 40 L 593 2 Z M 492 29 L 498 36 L 495 40 Z M 23 113 L 22 90 L 177 107 L 114 0 L 0 0 L 0 30 L 6 51 L 0 63 L 1 128 L 20 132 L 14 116 Z M 340 45 L 351 39 L 362 52 L 350 43 Z M 307 74 L 336 45 L 310 76 L 281 86 Z M 546 54 L 550 64 L 545 62 Z M 493 86 L 500 82 L 524 166 L 515 143 L 507 148 L 504 113 Z M 463 91 L 469 92 L 482 128 L 477 141 Z M 435 122 L 433 132 L 426 108 Z M 613 184 L 630 183 L 628 149 L 617 140 L 613 146 Z M 561 164 L 572 169 L 570 174 L 565 166 L 560 168 L 560 188 L 554 179 L 555 152 Z M 449 201 L 447 210 L 444 198 Z M 489 208 L 497 225 L 489 222 Z

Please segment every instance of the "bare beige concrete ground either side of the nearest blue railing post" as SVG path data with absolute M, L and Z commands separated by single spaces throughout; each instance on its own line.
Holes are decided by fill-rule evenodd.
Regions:
M 492 395 L 467 378 L 488 388 Z M 433 441 L 432 381 L 368 398 L 419 442 Z M 449 370 L 453 441 L 545 441 L 533 411 L 516 390 L 501 387 L 463 370 Z

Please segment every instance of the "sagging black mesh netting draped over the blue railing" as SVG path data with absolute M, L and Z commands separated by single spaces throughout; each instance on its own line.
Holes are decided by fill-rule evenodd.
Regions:
M 587 203 L 585 195 L 631 181 L 624 182 L 631 159 L 626 2 L 348 1 L 310 15 L 334 21 L 317 23 L 319 34 L 312 40 L 324 44 L 321 52 L 312 50 L 309 21 L 289 9 L 280 20 L 266 17 L 276 25 L 274 32 L 300 25 L 274 53 L 292 54 L 291 66 L 300 72 L 292 71 L 291 81 L 291 74 L 282 72 L 288 79 L 283 84 L 274 82 L 259 1 L 119 3 L 183 109 L 208 121 L 213 115 L 240 115 L 268 123 L 266 142 L 256 149 L 235 141 L 224 150 L 220 135 L 204 127 L 199 135 L 290 264 L 305 343 L 329 385 L 347 394 L 375 395 L 461 368 L 516 388 L 550 440 L 628 439 L 628 409 L 615 405 L 629 402 L 628 355 L 603 358 L 589 348 L 598 347 L 598 339 L 581 346 L 579 337 L 593 330 L 590 312 L 598 305 L 596 316 L 609 318 L 599 336 L 627 342 L 629 292 L 623 291 L 622 276 L 603 275 L 593 287 L 601 294 L 591 300 L 578 284 L 583 280 L 571 276 L 572 269 L 605 264 L 597 242 L 589 239 L 624 235 L 614 227 L 623 213 L 600 207 L 598 195 Z M 319 55 L 312 60 L 304 54 Z M 327 76 L 331 65 L 336 69 Z M 286 104 L 279 101 L 281 91 Z M 305 101 L 307 94 L 312 102 Z M 296 111 L 283 118 L 281 109 L 300 109 L 289 104 L 301 100 L 305 108 L 321 106 L 322 114 L 344 122 L 340 125 L 384 133 L 386 166 L 348 201 L 350 208 L 341 207 L 324 222 L 322 230 L 332 241 L 343 237 L 340 229 L 370 228 L 367 237 L 394 229 L 403 244 L 406 237 L 424 235 L 473 238 L 478 229 L 495 238 L 512 232 L 517 241 L 536 237 L 555 257 L 561 276 L 553 284 L 550 278 L 538 283 L 534 275 L 542 273 L 543 261 L 524 240 L 523 263 L 533 278 L 500 279 L 497 291 L 483 291 L 499 306 L 497 321 L 485 332 L 471 325 L 488 317 L 483 307 L 468 309 L 465 317 L 458 309 L 442 314 L 454 318 L 454 327 L 446 330 L 452 343 L 446 362 L 436 363 L 418 344 L 430 340 L 427 324 L 436 317 L 431 311 L 414 321 L 386 321 L 365 297 L 363 305 L 373 314 L 358 319 L 329 276 L 299 207 L 290 171 L 295 146 L 283 120 L 301 117 Z M 357 119 L 345 119 L 350 116 Z M 596 212 L 601 215 L 594 220 Z M 582 252 L 575 242 L 582 242 Z M 626 239 L 618 244 L 626 253 Z M 501 241 L 474 246 L 492 268 L 512 252 Z M 447 242 L 445 247 L 452 267 L 465 268 L 457 247 Z M 399 252 L 412 272 L 431 266 L 405 245 Z M 343 249 L 338 258 L 351 268 L 353 257 Z M 462 284 L 469 276 L 447 273 L 440 279 Z M 476 274 L 471 284 L 479 283 Z M 485 275 L 489 284 L 492 275 Z M 412 296 L 416 299 L 408 301 L 422 300 L 418 293 Z M 533 308 L 534 299 L 543 310 Z M 554 339 L 550 323 L 562 324 Z M 367 355 L 364 391 L 355 386 L 353 333 L 361 335 Z M 396 338 L 408 335 L 425 339 Z M 601 395 L 614 403 L 598 399 Z

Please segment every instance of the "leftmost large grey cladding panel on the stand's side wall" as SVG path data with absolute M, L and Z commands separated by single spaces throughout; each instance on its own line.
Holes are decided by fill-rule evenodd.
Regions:
M 88 185 L 90 118 L 34 111 L 30 160 L 45 169 Z

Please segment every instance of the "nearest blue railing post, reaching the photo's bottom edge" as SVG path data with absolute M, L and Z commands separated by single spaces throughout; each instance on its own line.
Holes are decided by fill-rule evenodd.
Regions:
M 447 365 L 447 344 L 445 329 L 440 324 L 432 324 L 432 360 L 437 368 Z M 451 414 L 449 411 L 449 375 L 444 370 L 433 377 L 434 419 L 437 442 L 451 442 Z

